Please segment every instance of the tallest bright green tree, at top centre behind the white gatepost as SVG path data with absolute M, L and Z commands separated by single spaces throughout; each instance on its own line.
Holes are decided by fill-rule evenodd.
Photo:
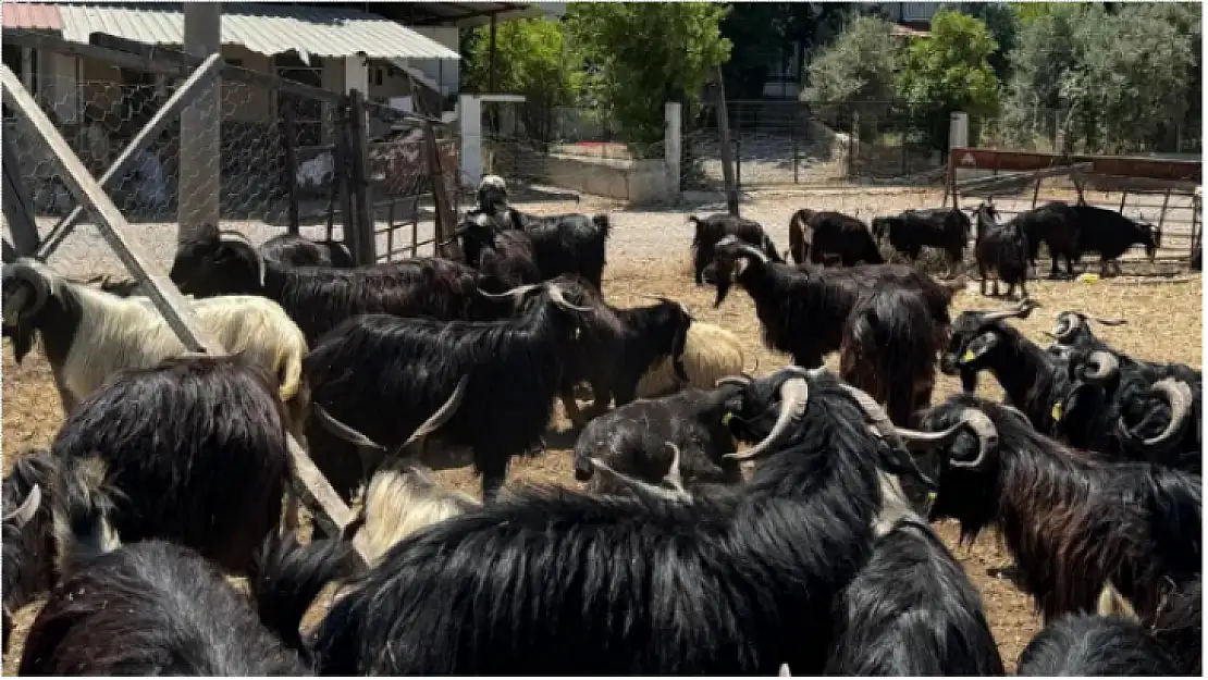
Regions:
M 565 25 L 581 52 L 596 103 L 629 141 L 663 139 L 663 104 L 698 103 L 730 58 L 721 36 L 725 5 L 712 2 L 576 2 Z

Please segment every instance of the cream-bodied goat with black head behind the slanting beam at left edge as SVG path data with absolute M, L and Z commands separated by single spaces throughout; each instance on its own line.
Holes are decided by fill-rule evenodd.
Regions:
M 18 293 L 23 292 L 24 304 Z M 308 395 L 302 383 L 306 337 L 279 304 L 256 296 L 190 301 L 202 327 L 230 353 L 240 353 L 273 376 L 301 436 Z M 13 359 L 29 353 L 36 332 L 54 373 L 63 411 L 124 368 L 147 368 L 187 348 L 145 297 L 122 298 L 63 281 L 36 260 L 4 266 L 4 324 L 12 329 Z

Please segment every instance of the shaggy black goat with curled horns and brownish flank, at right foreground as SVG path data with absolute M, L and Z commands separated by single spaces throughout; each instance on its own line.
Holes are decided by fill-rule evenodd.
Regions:
M 976 408 L 994 423 L 998 447 L 977 469 L 942 465 L 933 519 L 960 522 L 962 542 L 997 527 L 1018 564 L 1020 586 L 1046 621 L 1094 611 L 1113 583 L 1149 624 L 1168 583 L 1200 579 L 1201 481 L 1144 463 L 1110 463 L 1074 453 L 1038 434 L 1018 413 L 954 395 L 922 418 L 939 431 Z M 943 460 L 971 460 L 966 432 Z

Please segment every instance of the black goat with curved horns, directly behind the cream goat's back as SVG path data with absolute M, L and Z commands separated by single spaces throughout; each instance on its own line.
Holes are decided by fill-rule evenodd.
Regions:
M 416 257 L 355 269 L 288 267 L 266 261 L 238 232 L 213 225 L 176 251 L 170 278 L 194 297 L 261 295 L 275 301 L 314 345 L 358 314 L 436 319 L 493 319 L 494 304 L 477 286 L 478 273 L 459 262 Z

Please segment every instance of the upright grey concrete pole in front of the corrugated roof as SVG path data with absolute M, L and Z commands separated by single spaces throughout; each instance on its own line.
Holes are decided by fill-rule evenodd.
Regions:
M 222 5 L 185 2 L 185 52 L 204 59 L 222 47 Z M 178 240 L 203 223 L 219 223 L 222 167 L 222 91 L 217 76 L 198 83 L 201 93 L 180 115 L 180 203 Z

